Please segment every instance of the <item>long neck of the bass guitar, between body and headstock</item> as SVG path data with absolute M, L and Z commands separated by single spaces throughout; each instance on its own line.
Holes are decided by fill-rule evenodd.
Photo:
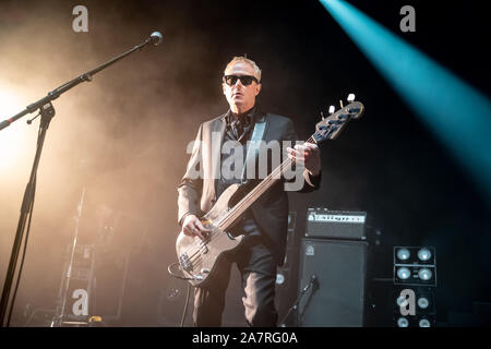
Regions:
M 313 135 L 307 142 L 315 142 Z M 307 143 L 304 142 L 304 143 Z M 290 158 L 285 159 L 270 174 L 267 174 L 258 185 L 255 185 L 246 196 L 242 197 L 228 213 L 218 225 L 223 230 L 227 229 L 237 218 L 239 218 L 262 194 L 264 194 L 274 183 L 276 183 L 295 164 Z

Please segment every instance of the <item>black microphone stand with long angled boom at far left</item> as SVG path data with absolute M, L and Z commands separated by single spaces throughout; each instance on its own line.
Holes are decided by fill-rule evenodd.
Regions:
M 43 145 L 44 145 L 45 137 L 46 137 L 46 132 L 49 128 L 49 123 L 56 113 L 55 108 L 51 104 L 51 100 L 57 99 L 58 97 L 61 96 L 61 94 L 65 93 L 67 91 L 75 87 L 76 85 L 79 85 L 83 82 L 91 82 L 92 77 L 95 74 L 97 74 L 101 70 L 108 68 L 109 65 L 116 63 L 120 59 L 129 56 L 130 53 L 141 50 L 147 44 L 153 43 L 154 45 L 159 45 L 160 40 L 161 40 L 161 35 L 159 33 L 157 33 L 158 34 L 157 37 L 159 38 L 157 41 L 156 40 L 157 37 L 155 37 L 154 34 L 152 34 L 152 36 L 148 37 L 144 43 L 115 57 L 113 59 L 107 61 L 106 63 L 69 81 L 68 83 L 55 88 L 53 91 L 49 92 L 46 97 L 28 105 L 24 110 L 22 110 L 17 115 L 13 116 L 12 118 L 0 122 L 0 130 L 2 130 L 4 128 L 9 127 L 12 122 L 15 122 L 20 118 L 24 117 L 25 115 L 32 113 L 38 109 L 39 109 L 39 113 L 41 117 L 40 123 L 39 123 L 36 155 L 34 157 L 34 164 L 33 164 L 33 168 L 31 170 L 29 181 L 28 181 L 27 186 L 24 192 L 24 198 L 23 198 L 22 207 L 21 207 L 21 217 L 19 218 L 17 230 L 15 232 L 15 239 L 14 239 L 14 243 L 12 245 L 12 253 L 11 253 L 11 257 L 10 257 L 10 262 L 9 262 L 9 268 L 7 270 L 5 280 L 3 284 L 3 291 L 2 291 L 2 297 L 1 297 L 1 301 L 0 301 L 0 327 L 3 327 L 3 326 L 9 327 L 9 325 L 10 325 L 10 318 L 12 316 L 13 304 L 15 301 L 15 293 L 16 293 L 16 290 L 19 287 L 19 281 L 21 279 L 21 273 L 22 273 L 22 266 L 23 266 L 24 258 L 22 260 L 21 267 L 19 269 L 17 282 L 16 282 L 16 287 L 15 287 L 15 290 L 12 296 L 12 301 L 11 301 L 11 305 L 10 305 L 10 310 L 9 310 L 9 316 L 5 322 L 7 309 L 9 306 L 10 293 L 11 293 L 11 289 L 12 289 L 12 281 L 13 281 L 15 270 L 16 270 L 19 252 L 20 252 L 21 244 L 23 241 L 23 236 L 24 236 L 24 230 L 26 227 L 27 219 L 28 219 L 28 225 L 27 225 L 27 232 L 26 232 L 25 239 L 27 239 L 27 237 L 28 237 L 28 230 L 29 230 L 29 226 L 31 226 L 31 216 L 32 216 L 32 212 L 33 212 L 34 196 L 35 196 L 35 191 L 36 191 L 36 173 L 37 173 L 37 168 L 39 166 L 39 159 L 40 159 L 40 155 L 43 152 Z M 32 121 L 32 120 L 29 120 L 29 121 Z M 27 241 L 25 241 L 24 255 L 25 255 L 26 242 Z

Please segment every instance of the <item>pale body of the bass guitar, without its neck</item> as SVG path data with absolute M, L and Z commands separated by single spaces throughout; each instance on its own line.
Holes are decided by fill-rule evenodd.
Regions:
M 232 237 L 220 227 L 230 227 L 232 222 L 221 222 L 230 209 L 230 203 L 236 201 L 241 192 L 239 184 L 228 186 L 218 197 L 212 209 L 201 218 L 203 226 L 212 230 L 205 241 L 199 237 L 190 237 L 182 231 L 176 241 L 176 252 L 182 272 L 192 278 L 191 285 L 204 287 L 213 282 L 214 276 L 219 270 L 219 261 L 224 254 L 236 250 L 241 243 L 243 236 Z

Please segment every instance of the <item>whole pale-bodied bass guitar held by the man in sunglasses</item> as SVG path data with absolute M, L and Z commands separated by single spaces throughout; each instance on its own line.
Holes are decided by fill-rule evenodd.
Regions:
M 335 140 L 349 120 L 358 119 L 363 113 L 363 105 L 355 101 L 352 94 L 348 97 L 348 101 L 349 105 L 346 107 L 342 103 L 342 108 L 336 112 L 333 110 L 334 107 L 331 107 L 331 115 L 325 118 L 323 116 L 322 121 L 315 124 L 315 133 L 306 142 L 319 144 L 325 140 Z M 247 194 L 243 194 L 244 184 L 228 186 L 212 209 L 200 218 L 203 226 L 211 230 L 205 240 L 187 236 L 182 231 L 179 233 L 176 241 L 178 262 L 191 285 L 203 287 L 213 282 L 214 276 L 219 270 L 217 265 L 220 258 L 226 252 L 237 249 L 244 237 L 243 234 L 233 237 L 227 230 L 292 165 L 294 160 L 287 158 Z M 238 195 L 240 200 L 237 198 Z

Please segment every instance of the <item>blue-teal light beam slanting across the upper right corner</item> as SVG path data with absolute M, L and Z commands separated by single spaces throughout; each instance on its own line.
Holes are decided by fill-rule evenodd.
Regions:
M 320 1 L 491 200 L 490 99 L 346 1 Z

